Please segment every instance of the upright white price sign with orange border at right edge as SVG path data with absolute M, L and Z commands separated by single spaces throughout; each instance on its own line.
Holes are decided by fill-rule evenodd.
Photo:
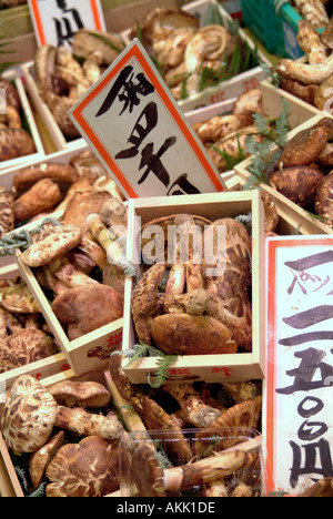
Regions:
M 263 439 L 270 492 L 333 477 L 333 237 L 266 241 Z

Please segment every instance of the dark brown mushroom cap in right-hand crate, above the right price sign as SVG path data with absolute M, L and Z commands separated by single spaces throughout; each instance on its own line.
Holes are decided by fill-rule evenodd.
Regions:
M 309 166 L 293 166 L 275 171 L 270 176 L 270 185 L 301 207 L 314 203 L 323 173 Z

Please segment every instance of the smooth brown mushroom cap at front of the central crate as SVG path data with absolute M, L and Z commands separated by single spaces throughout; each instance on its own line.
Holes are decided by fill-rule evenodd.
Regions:
M 168 355 L 214 355 L 238 352 L 232 334 L 206 315 L 165 314 L 155 317 L 151 335 Z

